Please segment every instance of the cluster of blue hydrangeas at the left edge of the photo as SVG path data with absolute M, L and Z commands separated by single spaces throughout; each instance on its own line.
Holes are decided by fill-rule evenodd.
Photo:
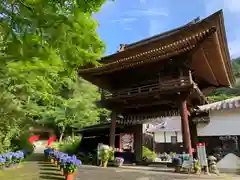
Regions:
M 0 170 L 18 166 L 24 160 L 23 151 L 0 154 Z

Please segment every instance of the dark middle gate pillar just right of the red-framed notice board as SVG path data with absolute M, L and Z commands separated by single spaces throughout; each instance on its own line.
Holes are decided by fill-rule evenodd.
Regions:
M 137 163 L 142 161 L 142 145 L 143 145 L 142 124 L 137 124 L 135 125 L 134 128 L 134 153 Z

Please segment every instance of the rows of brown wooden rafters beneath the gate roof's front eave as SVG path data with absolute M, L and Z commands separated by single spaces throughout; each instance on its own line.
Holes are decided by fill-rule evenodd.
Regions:
M 204 29 L 197 33 L 188 35 L 184 38 L 179 36 L 177 40 L 171 40 L 171 43 L 167 43 L 166 45 L 161 45 L 161 43 L 158 43 L 158 46 L 154 48 L 148 50 L 144 49 L 141 52 L 135 53 L 133 55 L 128 55 L 128 53 L 124 51 L 119 52 L 118 54 L 122 53 L 125 54 L 125 56 L 116 61 L 104 64 L 103 66 L 81 69 L 79 70 L 79 74 L 84 75 L 89 73 L 109 73 L 116 70 L 128 69 L 130 67 L 143 63 L 159 61 L 161 59 L 166 59 L 179 54 L 183 54 L 191 51 L 197 46 L 200 41 L 202 41 L 205 37 L 214 33 L 215 31 L 216 28 L 211 27 L 209 29 Z

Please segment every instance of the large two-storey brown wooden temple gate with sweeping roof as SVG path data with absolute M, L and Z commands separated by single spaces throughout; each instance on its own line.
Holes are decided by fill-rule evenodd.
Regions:
M 222 11 L 121 46 L 100 62 L 102 66 L 80 69 L 79 75 L 102 89 L 101 104 L 112 110 L 111 146 L 116 123 L 136 125 L 137 161 L 142 160 L 142 124 L 176 114 L 181 116 L 184 150 L 192 154 L 192 109 L 206 104 L 212 89 L 234 83 Z

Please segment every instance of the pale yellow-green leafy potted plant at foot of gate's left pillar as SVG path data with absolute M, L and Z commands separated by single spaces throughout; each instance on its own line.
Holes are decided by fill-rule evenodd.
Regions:
M 99 160 L 102 167 L 107 167 L 109 160 L 114 160 L 114 150 L 108 145 L 102 145 L 99 150 Z

